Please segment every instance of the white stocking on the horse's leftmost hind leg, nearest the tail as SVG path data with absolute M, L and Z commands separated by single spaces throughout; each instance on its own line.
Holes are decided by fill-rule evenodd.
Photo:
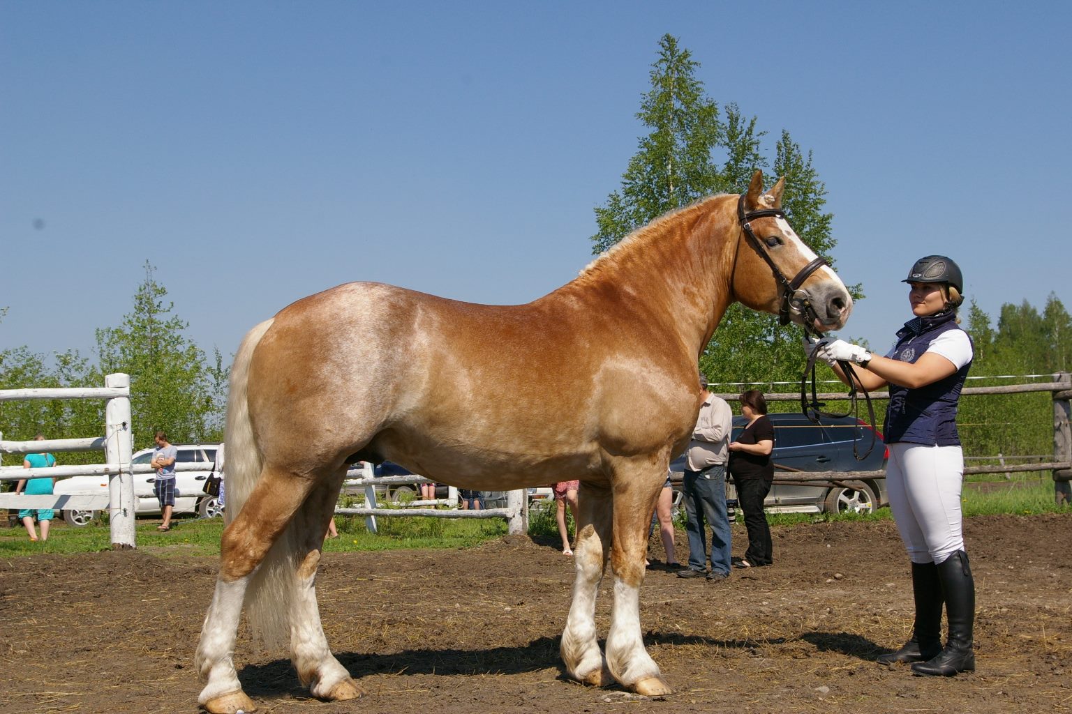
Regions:
M 238 707 L 244 711 L 253 711 L 253 702 L 242 694 L 242 685 L 238 681 L 235 664 L 232 659 L 235 652 L 235 638 L 238 635 L 238 621 L 242 614 L 242 598 L 252 574 L 232 580 L 218 578 L 215 591 L 212 593 L 212 604 L 209 605 L 202 627 L 200 642 L 197 644 L 195 665 L 197 673 L 205 680 L 205 688 L 197 696 L 197 703 L 205 705 L 224 695 L 239 694 L 249 702 L 247 707 Z M 209 709 L 209 711 L 215 711 Z

